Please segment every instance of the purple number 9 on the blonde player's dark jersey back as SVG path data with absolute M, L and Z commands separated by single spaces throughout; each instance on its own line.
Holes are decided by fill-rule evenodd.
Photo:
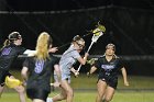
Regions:
M 34 71 L 36 73 L 41 73 L 43 70 L 43 66 L 44 66 L 44 60 L 36 60 Z

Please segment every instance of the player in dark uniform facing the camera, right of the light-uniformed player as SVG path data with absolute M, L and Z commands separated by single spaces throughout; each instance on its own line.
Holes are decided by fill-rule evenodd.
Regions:
M 114 55 L 114 52 L 116 46 L 113 44 L 108 44 L 106 46 L 105 56 L 98 58 L 88 73 L 90 75 L 96 69 L 99 69 L 97 82 L 98 94 L 96 102 L 110 102 L 112 100 L 118 84 L 119 70 L 122 71 L 124 86 L 129 86 L 123 63 L 121 58 Z

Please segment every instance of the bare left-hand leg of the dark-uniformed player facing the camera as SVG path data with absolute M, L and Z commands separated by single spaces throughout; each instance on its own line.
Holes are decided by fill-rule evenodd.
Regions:
M 107 88 L 106 81 L 102 81 L 101 79 L 99 79 L 98 83 L 97 83 L 98 93 L 97 93 L 96 102 L 102 102 L 102 98 L 105 95 L 106 88 Z

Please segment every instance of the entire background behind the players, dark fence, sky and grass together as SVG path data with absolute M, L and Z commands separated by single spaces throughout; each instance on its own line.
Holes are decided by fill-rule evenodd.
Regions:
M 55 53 L 61 56 L 75 35 L 88 34 L 98 22 L 107 31 L 91 47 L 90 58 L 103 55 L 106 45 L 113 43 L 116 54 L 125 63 L 130 81 L 130 87 L 124 87 L 119 77 L 112 101 L 154 102 L 154 0 L 0 0 L 0 47 L 11 32 L 18 31 L 23 46 L 35 49 L 37 36 L 45 31 L 53 37 L 54 46 L 65 45 Z M 84 37 L 85 50 L 91 36 Z M 20 57 L 11 70 L 21 80 L 23 60 Z M 87 64 L 81 67 L 79 78 L 72 77 L 75 102 L 95 102 L 97 72 L 88 78 L 89 69 Z M 55 93 L 52 90 L 51 97 Z M 18 94 L 6 88 L 0 101 L 10 102 L 10 99 L 19 102 Z

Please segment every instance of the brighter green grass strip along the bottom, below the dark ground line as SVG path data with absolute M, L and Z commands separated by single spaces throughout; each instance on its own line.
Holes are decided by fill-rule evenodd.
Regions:
M 50 97 L 57 94 L 52 92 Z M 96 91 L 75 91 L 74 102 L 95 102 Z M 31 102 L 26 99 L 28 102 Z M 0 102 L 20 102 L 14 92 L 4 92 Z M 65 102 L 65 101 L 62 101 Z M 154 92 L 147 91 L 117 91 L 111 102 L 154 102 Z

